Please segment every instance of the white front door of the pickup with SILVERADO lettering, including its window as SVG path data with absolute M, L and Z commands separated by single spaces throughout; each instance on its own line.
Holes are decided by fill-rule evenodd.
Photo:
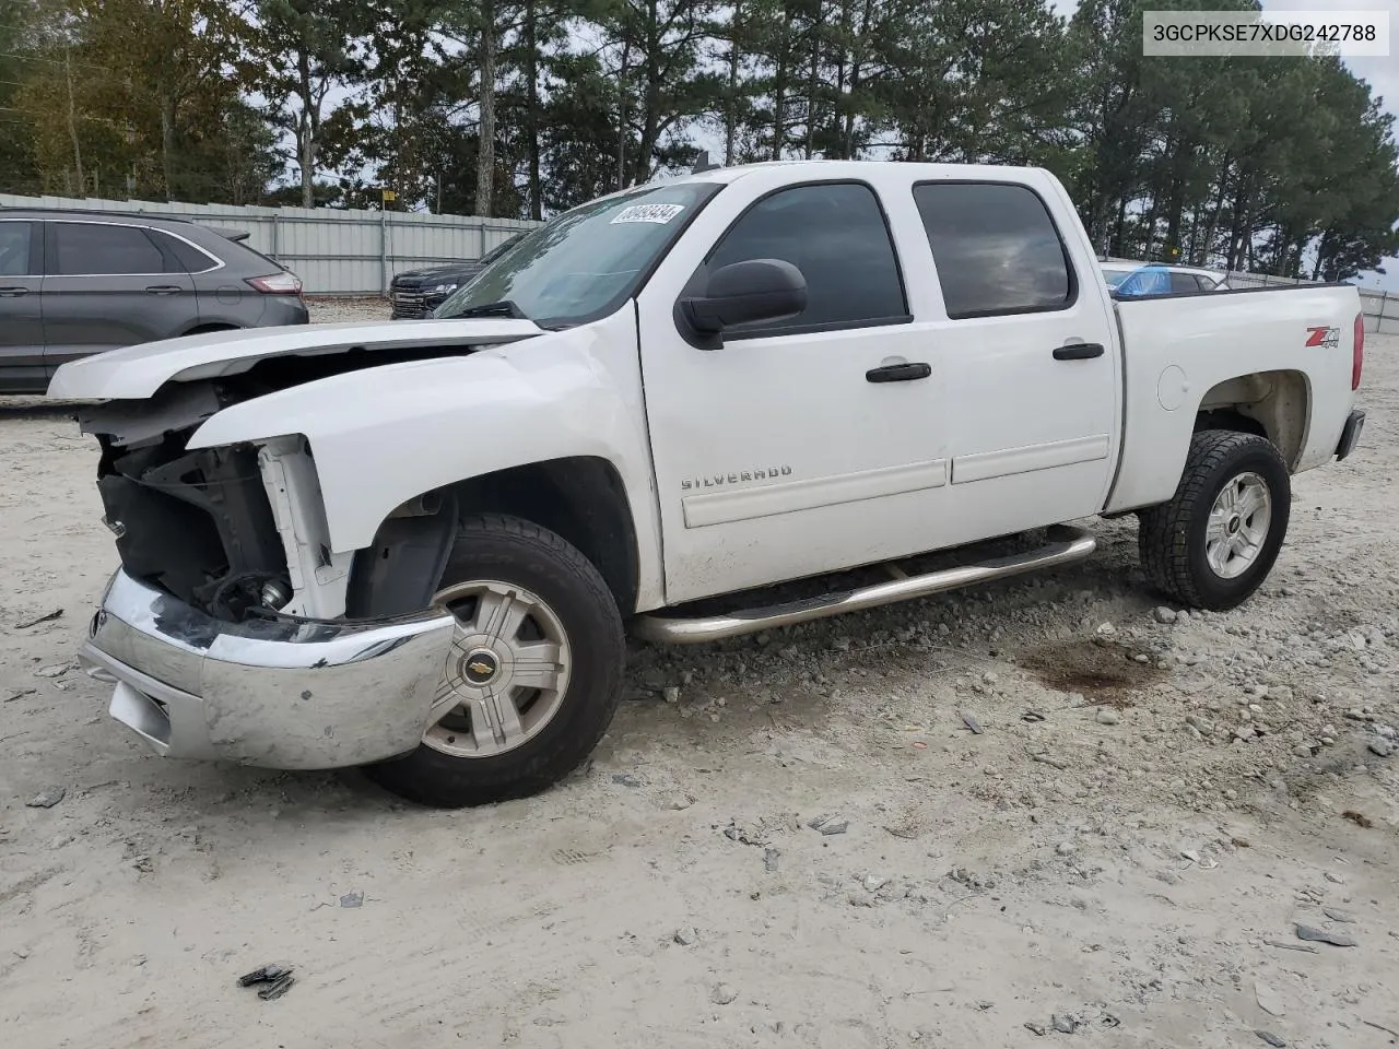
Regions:
M 672 604 L 923 550 L 947 483 L 943 372 L 876 192 L 736 189 L 638 304 Z M 806 311 L 687 343 L 677 292 L 748 259 L 802 270 Z

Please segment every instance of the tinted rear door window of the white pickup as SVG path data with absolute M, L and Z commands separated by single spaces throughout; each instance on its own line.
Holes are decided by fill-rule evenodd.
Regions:
M 914 201 L 933 249 L 947 316 L 1066 309 L 1077 297 L 1049 210 L 1009 182 L 925 182 Z

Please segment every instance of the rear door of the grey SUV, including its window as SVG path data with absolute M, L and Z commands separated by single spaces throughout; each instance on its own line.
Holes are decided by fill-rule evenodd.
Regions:
M 43 362 L 183 334 L 199 322 L 183 264 L 139 225 L 46 220 Z

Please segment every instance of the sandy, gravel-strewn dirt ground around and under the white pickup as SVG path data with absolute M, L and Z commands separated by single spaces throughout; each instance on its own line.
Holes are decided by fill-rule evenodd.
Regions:
M 0 1042 L 1399 1043 L 1399 338 L 1365 379 L 1237 611 L 1172 617 L 1107 523 L 1051 575 L 637 645 L 585 769 L 456 813 L 129 738 L 74 663 L 95 445 L 6 400 Z

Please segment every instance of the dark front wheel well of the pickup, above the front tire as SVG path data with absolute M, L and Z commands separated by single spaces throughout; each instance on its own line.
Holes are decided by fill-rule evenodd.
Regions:
M 637 530 L 627 490 L 606 459 L 571 456 L 515 466 L 452 485 L 457 512 L 506 513 L 561 536 L 603 576 L 617 608 L 637 608 Z

